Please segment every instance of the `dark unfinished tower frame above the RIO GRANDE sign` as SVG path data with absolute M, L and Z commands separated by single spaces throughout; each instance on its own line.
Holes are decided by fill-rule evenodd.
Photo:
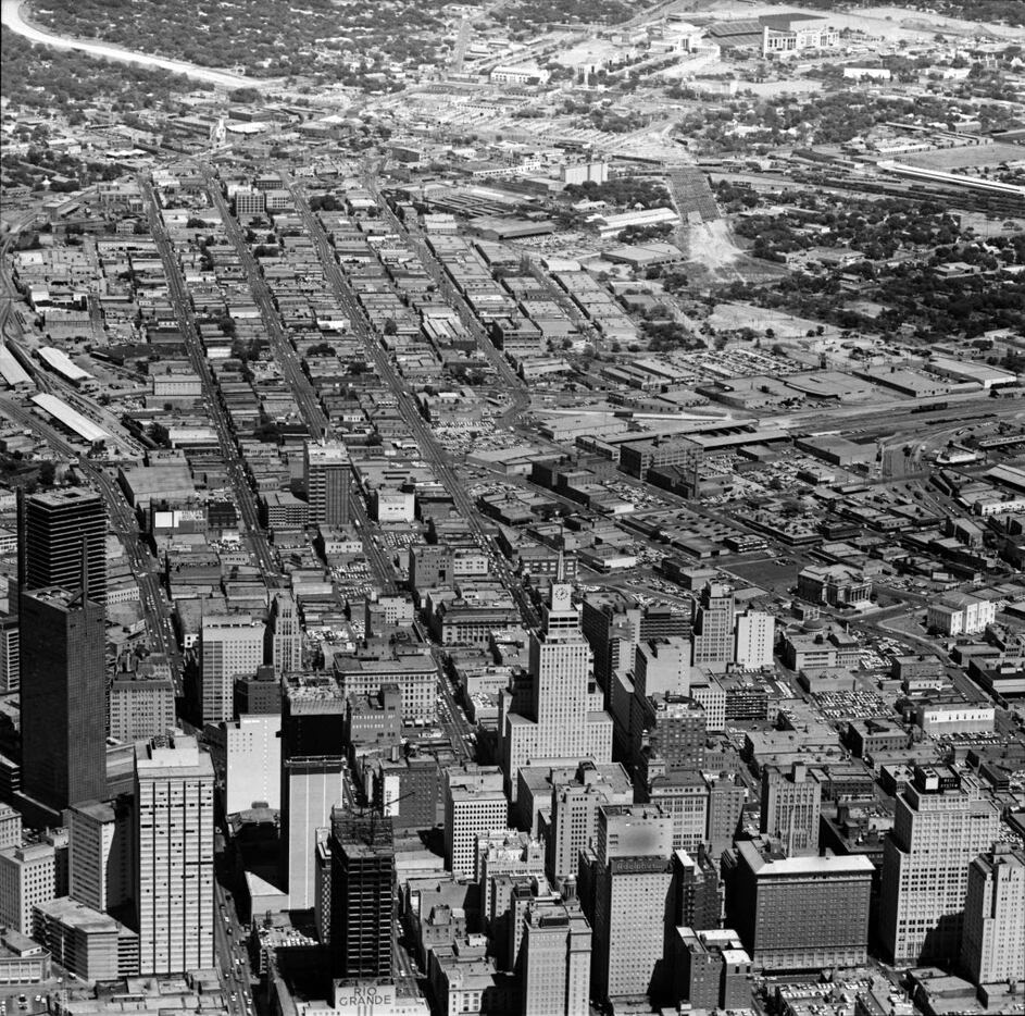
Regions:
M 390 978 L 395 920 L 391 819 L 335 808 L 330 826 L 332 977 Z

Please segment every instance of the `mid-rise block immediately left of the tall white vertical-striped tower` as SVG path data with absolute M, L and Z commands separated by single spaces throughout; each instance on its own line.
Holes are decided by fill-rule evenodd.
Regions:
M 132 803 L 87 801 L 67 811 L 67 894 L 93 910 L 115 910 L 134 888 Z

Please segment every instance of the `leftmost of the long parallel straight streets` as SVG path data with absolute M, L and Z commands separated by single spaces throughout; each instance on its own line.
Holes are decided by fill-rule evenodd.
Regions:
M 153 193 L 152 183 L 146 177 L 140 177 L 139 184 L 146 199 L 150 233 L 157 241 L 157 248 L 160 251 L 160 258 L 164 265 L 168 296 L 171 297 L 178 319 L 178 330 L 188 349 L 192 369 L 202 380 L 203 388 L 207 393 L 207 410 L 210 413 L 211 423 L 213 423 L 214 430 L 217 432 L 217 443 L 221 448 L 221 455 L 227 466 L 232 487 L 235 491 L 236 505 L 238 506 L 239 515 L 246 526 L 246 535 L 257 555 L 257 562 L 263 578 L 273 583 L 279 574 L 278 567 L 274 559 L 274 554 L 271 550 L 266 533 L 263 532 L 260 525 L 260 512 L 257 507 L 257 498 L 253 495 L 252 487 L 249 485 L 249 481 L 246 479 L 246 463 L 242 461 L 238 446 L 235 443 L 232 424 L 221 404 L 213 373 L 210 370 L 210 364 L 207 362 L 207 350 L 203 348 L 202 340 L 199 337 L 199 330 L 196 327 L 196 318 L 192 314 L 192 301 L 188 288 L 185 285 L 185 280 L 182 277 L 182 269 L 178 264 L 178 259 L 174 252 L 174 247 L 172 246 L 167 231 L 164 228 L 163 218 L 160 213 L 157 195 Z

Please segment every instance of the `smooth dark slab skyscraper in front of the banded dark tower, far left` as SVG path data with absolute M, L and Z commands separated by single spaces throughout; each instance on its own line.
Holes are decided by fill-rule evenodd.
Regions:
M 22 593 L 22 790 L 58 810 L 107 796 L 104 621 L 80 593 Z

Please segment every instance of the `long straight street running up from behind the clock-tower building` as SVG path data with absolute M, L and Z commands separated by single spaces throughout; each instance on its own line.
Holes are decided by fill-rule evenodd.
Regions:
M 302 218 L 307 226 L 307 232 L 316 248 L 324 275 L 330 283 L 335 297 L 349 315 L 353 332 L 362 340 L 367 354 L 373 360 L 378 377 L 380 377 L 395 395 L 399 413 L 416 441 L 421 455 L 423 455 L 424 459 L 432 467 L 435 475 L 452 498 L 457 511 L 468 523 L 477 540 L 478 546 L 490 553 L 496 578 L 515 597 L 520 606 L 521 615 L 523 616 L 524 624 L 528 628 L 537 628 L 539 621 L 533 605 L 516 577 L 513 574 L 509 561 L 499 553 L 491 535 L 480 522 L 473 499 L 467 494 L 464 482 L 453 469 L 448 451 L 441 447 L 434 436 L 430 426 L 421 416 L 412 387 L 392 364 L 373 325 L 364 314 L 363 308 L 360 306 L 353 292 L 349 288 L 349 284 L 338 267 L 338 262 L 335 260 L 334 248 L 327 238 L 327 233 L 323 224 L 310 210 L 305 195 L 300 187 L 293 183 L 289 183 L 288 186 L 296 200 L 296 209 Z M 497 350 L 495 350 L 495 352 L 497 354 Z M 510 369 L 508 363 L 505 368 Z

